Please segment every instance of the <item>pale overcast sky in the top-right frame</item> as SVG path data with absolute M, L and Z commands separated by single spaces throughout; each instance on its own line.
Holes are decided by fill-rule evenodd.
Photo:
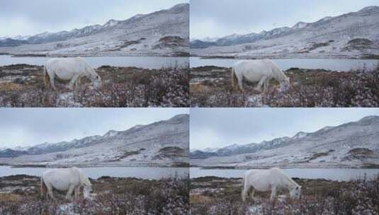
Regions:
M 379 6 L 378 0 L 191 0 L 191 39 L 259 33 Z

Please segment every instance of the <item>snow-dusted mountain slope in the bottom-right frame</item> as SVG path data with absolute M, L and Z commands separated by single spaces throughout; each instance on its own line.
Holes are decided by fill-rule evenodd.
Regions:
M 191 165 L 237 167 L 373 167 L 379 165 L 379 117 L 260 144 L 191 151 Z

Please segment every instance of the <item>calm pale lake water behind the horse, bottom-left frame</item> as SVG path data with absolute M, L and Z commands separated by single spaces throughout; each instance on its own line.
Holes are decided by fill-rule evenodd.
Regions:
M 35 175 L 40 176 L 47 168 L 11 168 L 10 166 L 0 166 L 0 177 L 7 175 Z M 188 178 L 188 168 L 152 168 L 152 167 L 91 167 L 81 168 L 89 178 L 99 178 L 101 176 L 111 176 L 120 178 Z

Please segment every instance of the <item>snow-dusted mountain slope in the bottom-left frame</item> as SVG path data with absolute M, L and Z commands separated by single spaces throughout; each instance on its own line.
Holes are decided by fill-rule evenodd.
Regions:
M 137 125 L 126 131 L 55 144 L 39 144 L 24 151 L 0 151 L 0 163 L 10 165 L 185 165 L 188 163 L 188 115 Z

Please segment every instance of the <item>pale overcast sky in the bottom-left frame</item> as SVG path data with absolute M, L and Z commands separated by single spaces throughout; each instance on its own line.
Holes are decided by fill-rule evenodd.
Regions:
M 188 108 L 0 108 L 0 148 L 103 135 L 188 112 Z

